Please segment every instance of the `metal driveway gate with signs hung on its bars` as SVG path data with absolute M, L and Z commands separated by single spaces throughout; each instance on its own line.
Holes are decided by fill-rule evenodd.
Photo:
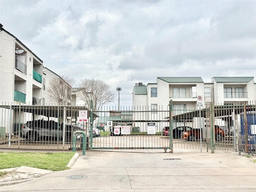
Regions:
M 92 149 L 137 150 L 170 149 L 168 132 L 170 111 L 148 110 L 147 107 L 95 112 L 100 117 L 96 128 L 100 136 L 92 139 Z

